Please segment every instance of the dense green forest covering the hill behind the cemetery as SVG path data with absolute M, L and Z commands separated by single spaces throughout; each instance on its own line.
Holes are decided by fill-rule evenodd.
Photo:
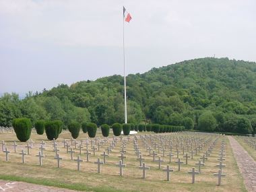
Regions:
M 17 117 L 97 125 L 124 122 L 123 77 L 113 75 L 0 98 L 0 125 Z M 256 63 L 203 58 L 127 76 L 128 123 L 251 133 L 256 127 Z

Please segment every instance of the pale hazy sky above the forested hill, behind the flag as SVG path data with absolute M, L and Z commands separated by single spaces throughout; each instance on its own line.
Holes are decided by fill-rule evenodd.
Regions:
M 0 94 L 201 57 L 256 61 L 255 0 L 0 0 Z

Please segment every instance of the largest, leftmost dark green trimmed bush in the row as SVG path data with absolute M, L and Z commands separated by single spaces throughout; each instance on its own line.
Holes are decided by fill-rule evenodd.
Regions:
M 26 142 L 30 139 L 30 134 L 32 130 L 32 123 L 28 118 L 18 118 L 13 119 L 12 126 L 16 133 L 17 138 L 22 141 Z

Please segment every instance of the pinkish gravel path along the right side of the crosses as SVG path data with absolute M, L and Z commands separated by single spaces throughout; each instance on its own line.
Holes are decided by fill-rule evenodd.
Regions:
M 237 165 L 248 191 L 256 191 L 256 162 L 248 154 L 248 152 L 234 139 L 232 136 L 228 136 L 230 145 L 234 152 Z

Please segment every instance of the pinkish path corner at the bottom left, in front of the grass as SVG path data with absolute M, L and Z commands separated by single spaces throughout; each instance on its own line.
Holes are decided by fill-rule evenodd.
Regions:
M 16 181 L 3 181 L 0 180 L 0 192 L 75 192 L 69 189 L 62 189 L 57 187 L 47 187 L 43 185 L 35 185 L 31 183 L 16 182 Z

